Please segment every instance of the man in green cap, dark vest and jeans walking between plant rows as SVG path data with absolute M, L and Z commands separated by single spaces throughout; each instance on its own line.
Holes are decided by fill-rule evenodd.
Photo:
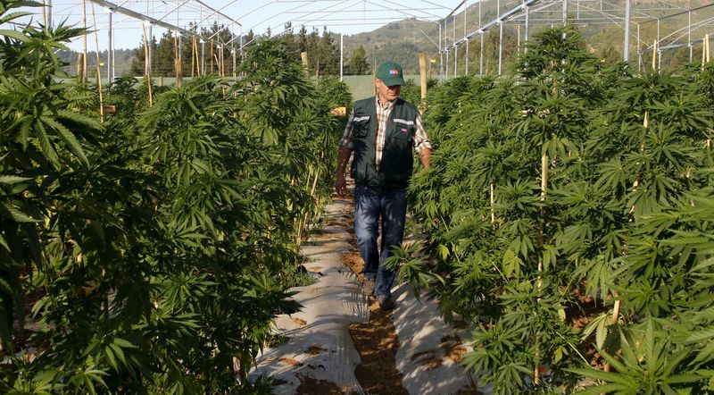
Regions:
M 377 96 L 354 103 L 340 140 L 335 189 L 338 196 L 345 196 L 345 167 L 354 153 L 354 233 L 364 260 L 365 290 L 373 290 L 381 309 L 391 310 L 396 273 L 382 264 L 393 248 L 402 247 L 412 150 L 428 169 L 431 144 L 417 107 L 399 98 L 404 85 L 402 67 L 391 61 L 382 63 L 374 83 Z M 378 250 L 380 217 L 382 243 Z

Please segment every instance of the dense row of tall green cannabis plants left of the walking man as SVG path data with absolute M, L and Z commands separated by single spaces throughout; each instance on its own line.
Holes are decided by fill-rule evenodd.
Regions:
M 3 1 L 0 24 L 24 3 Z M 100 101 L 58 82 L 55 53 L 80 34 L 2 31 L 0 391 L 267 388 L 247 374 L 299 308 L 287 289 L 331 191 L 346 87 L 316 87 L 265 40 L 244 79 L 157 94 L 122 78 Z

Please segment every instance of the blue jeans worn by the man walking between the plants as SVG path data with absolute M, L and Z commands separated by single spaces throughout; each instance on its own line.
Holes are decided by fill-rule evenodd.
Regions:
M 364 260 L 364 276 L 375 281 L 374 295 L 392 296 L 396 272 L 382 263 L 392 256 L 391 249 L 401 248 L 407 199 L 404 189 L 379 187 L 354 188 L 354 235 Z M 382 246 L 377 249 L 378 221 L 382 219 Z

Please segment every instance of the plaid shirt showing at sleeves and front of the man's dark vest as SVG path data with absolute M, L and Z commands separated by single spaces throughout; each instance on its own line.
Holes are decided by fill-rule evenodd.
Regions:
M 389 120 L 389 114 L 394 109 L 394 102 L 389 102 L 382 105 L 379 97 L 375 97 L 375 108 L 377 109 L 377 140 L 375 141 L 374 163 L 379 168 L 382 163 L 382 153 L 385 148 L 386 122 Z M 345 132 L 342 134 L 340 145 L 353 149 L 353 122 L 354 112 L 350 114 L 345 126 Z M 417 112 L 415 120 L 416 130 L 414 130 L 414 149 L 419 153 L 422 149 L 431 149 L 431 142 L 427 136 L 427 130 L 424 128 L 424 122 L 421 120 L 421 114 Z

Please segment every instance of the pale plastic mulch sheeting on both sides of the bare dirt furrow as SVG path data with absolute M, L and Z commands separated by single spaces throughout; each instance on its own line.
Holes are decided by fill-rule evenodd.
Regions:
M 333 382 L 344 393 L 364 394 L 354 375 L 360 356 L 354 348 L 348 325 L 369 320 L 369 300 L 360 283 L 341 260 L 353 250 L 350 234 L 352 202 L 337 199 L 327 207 L 328 221 L 320 234 L 303 246 L 310 260 L 305 267 L 321 273 L 308 287 L 295 288 L 295 300 L 303 310 L 279 316 L 277 331 L 288 337 L 286 344 L 265 349 L 251 377 L 273 376 L 281 382 L 277 394 L 295 394 L 301 378 Z M 337 220 L 337 224 L 335 223 Z M 396 308 L 392 320 L 400 342 L 396 367 L 403 374 L 403 387 L 411 394 L 483 393 L 473 390 L 469 376 L 458 364 L 458 356 L 469 349 L 469 330 L 444 324 L 436 302 L 419 302 L 408 284 L 394 287 Z M 303 393 L 317 393 L 307 391 Z M 461 391 L 461 392 L 460 392 Z

